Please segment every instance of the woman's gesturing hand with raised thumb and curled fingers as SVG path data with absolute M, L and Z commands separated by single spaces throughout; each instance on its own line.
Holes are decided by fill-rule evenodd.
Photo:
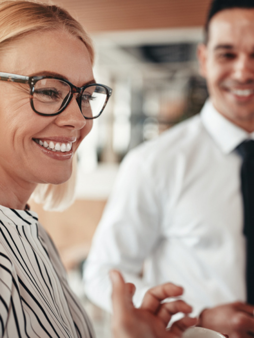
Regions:
M 111 271 L 110 278 L 114 338 L 178 338 L 189 326 L 196 325 L 196 318 L 185 316 L 166 330 L 172 315 L 192 312 L 192 307 L 182 300 L 161 303 L 165 298 L 180 296 L 181 287 L 171 283 L 156 286 L 146 292 L 141 307 L 136 309 L 132 302 L 135 286 L 125 283 L 118 271 Z

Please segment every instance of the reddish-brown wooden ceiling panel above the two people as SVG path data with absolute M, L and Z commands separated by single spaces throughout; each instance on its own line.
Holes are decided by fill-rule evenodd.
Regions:
M 91 33 L 202 26 L 210 0 L 55 0 Z

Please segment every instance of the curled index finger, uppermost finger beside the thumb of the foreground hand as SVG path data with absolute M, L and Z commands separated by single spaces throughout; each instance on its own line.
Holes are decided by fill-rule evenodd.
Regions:
M 160 307 L 162 300 L 168 297 L 180 296 L 182 293 L 183 288 L 172 283 L 155 286 L 144 295 L 141 308 L 155 313 Z

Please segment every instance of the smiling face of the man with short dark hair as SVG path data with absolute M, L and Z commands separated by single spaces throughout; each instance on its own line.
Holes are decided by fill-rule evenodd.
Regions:
M 254 9 L 218 12 L 198 50 L 210 99 L 227 119 L 254 131 Z

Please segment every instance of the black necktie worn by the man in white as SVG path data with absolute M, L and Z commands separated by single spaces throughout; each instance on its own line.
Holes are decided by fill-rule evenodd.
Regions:
M 254 141 L 244 141 L 236 150 L 243 158 L 241 188 L 244 207 L 243 233 L 246 236 L 247 302 L 254 305 Z

